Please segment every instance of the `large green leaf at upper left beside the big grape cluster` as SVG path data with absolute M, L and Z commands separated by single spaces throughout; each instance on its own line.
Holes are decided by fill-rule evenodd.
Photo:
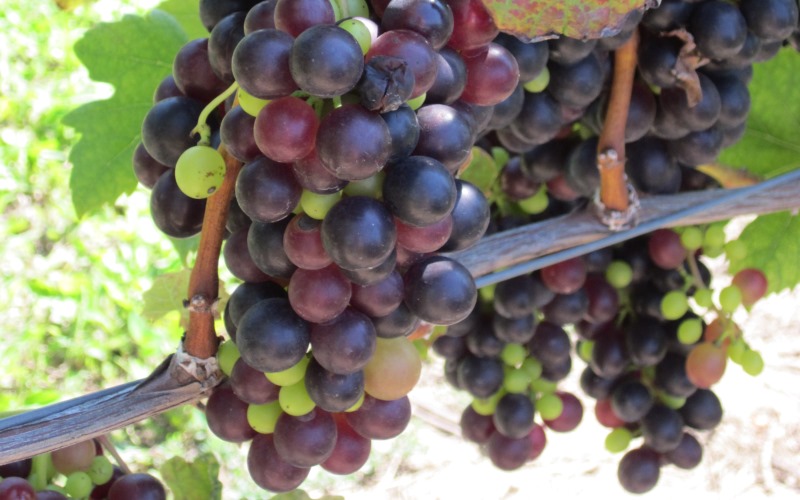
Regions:
M 169 14 L 125 16 L 87 31 L 75 53 L 89 76 L 114 86 L 111 99 L 84 104 L 64 118 L 81 139 L 69 159 L 72 203 L 78 216 L 110 204 L 136 188 L 131 157 L 153 92 L 172 71 L 186 34 Z

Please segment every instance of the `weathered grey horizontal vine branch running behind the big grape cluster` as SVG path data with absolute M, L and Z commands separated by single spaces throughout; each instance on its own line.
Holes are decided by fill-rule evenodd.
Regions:
M 643 222 L 669 216 L 688 206 L 719 199 L 736 190 L 718 189 L 642 201 Z M 738 215 L 800 208 L 800 181 L 779 183 L 744 199 L 729 200 L 670 226 L 727 220 Z M 535 257 L 599 240 L 612 234 L 591 213 L 563 217 L 498 233 L 475 247 L 450 254 L 478 277 Z M 625 233 L 621 233 L 625 234 Z M 88 394 L 0 420 L 0 465 L 63 448 L 133 424 L 204 397 L 209 384 L 180 380 L 170 356 L 147 380 Z M 170 363 L 172 362 L 172 363 Z

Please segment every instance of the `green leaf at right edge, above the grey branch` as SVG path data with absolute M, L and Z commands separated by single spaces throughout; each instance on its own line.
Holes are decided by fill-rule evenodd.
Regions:
M 720 162 L 772 177 L 800 166 L 800 58 L 793 49 L 783 49 L 753 71 L 747 129 Z

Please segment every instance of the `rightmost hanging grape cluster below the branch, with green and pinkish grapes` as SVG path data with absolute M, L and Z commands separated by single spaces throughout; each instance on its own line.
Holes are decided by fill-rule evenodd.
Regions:
M 724 246 L 723 246 L 724 245 Z M 628 449 L 633 439 L 640 447 L 627 451 L 618 477 L 634 493 L 652 489 L 665 464 L 691 469 L 702 458 L 702 448 L 685 428 L 710 430 L 722 418 L 722 406 L 710 390 L 725 371 L 727 359 L 757 375 L 763 369 L 760 354 L 750 349 L 731 315 L 752 306 L 766 293 L 766 279 L 758 270 L 736 274 L 722 288 L 715 304 L 709 289 L 711 275 L 696 254 L 742 258 L 739 242 L 725 244 L 719 225 L 703 231 L 684 228 L 680 233 L 658 230 L 633 240 L 609 254 L 605 285 L 618 307 L 600 322 L 577 326 L 579 355 L 588 363 L 581 375 L 584 391 L 597 400 L 595 415 L 609 428 L 606 447 Z M 587 280 L 588 281 L 588 280 Z M 589 293 L 590 303 L 592 292 Z M 690 305 L 713 318 L 706 323 Z

